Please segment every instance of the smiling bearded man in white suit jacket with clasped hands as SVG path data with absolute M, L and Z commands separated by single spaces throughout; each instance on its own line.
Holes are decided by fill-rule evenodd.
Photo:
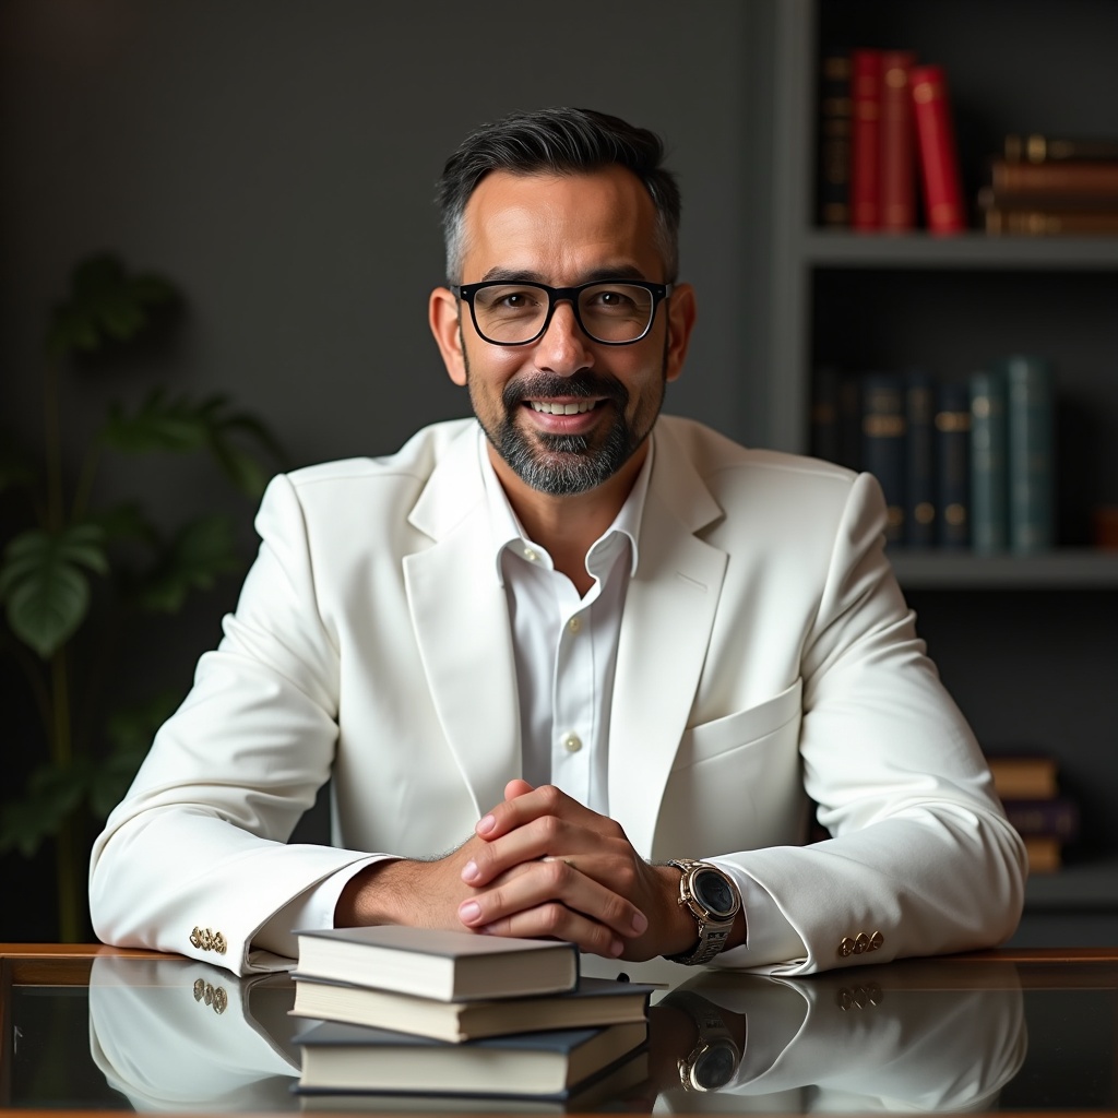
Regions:
M 452 157 L 429 320 L 476 423 L 272 483 L 94 850 L 102 938 L 246 973 L 395 922 L 800 973 L 1012 932 L 1022 845 L 877 483 L 660 416 L 695 320 L 661 155 L 563 108 Z M 286 845 L 331 775 L 335 845 Z

